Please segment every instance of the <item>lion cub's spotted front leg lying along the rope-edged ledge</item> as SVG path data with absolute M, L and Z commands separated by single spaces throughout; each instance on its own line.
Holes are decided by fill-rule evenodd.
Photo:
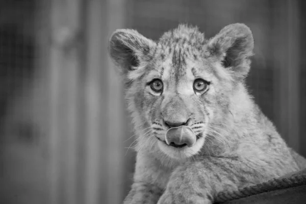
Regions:
M 218 192 L 237 190 L 284 174 L 281 162 L 256 159 L 213 158 L 177 167 L 158 204 L 212 203 Z

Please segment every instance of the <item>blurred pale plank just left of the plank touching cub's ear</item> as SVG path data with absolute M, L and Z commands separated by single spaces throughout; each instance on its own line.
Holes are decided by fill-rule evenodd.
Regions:
M 86 123 L 86 168 L 85 168 L 85 202 L 106 203 L 107 169 L 107 134 L 109 120 L 107 112 L 108 67 L 105 63 L 106 53 L 104 38 L 106 30 L 107 7 L 103 0 L 87 1 L 85 41 L 86 75 L 85 75 L 85 123 Z M 101 200 L 100 200 L 101 199 Z

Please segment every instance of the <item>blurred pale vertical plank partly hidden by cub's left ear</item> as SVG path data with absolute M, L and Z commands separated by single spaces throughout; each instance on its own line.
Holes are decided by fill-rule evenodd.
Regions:
M 104 38 L 108 42 L 111 34 L 116 29 L 126 27 L 126 7 L 124 0 L 108 0 L 108 33 Z M 105 46 L 107 48 L 108 44 Z M 107 55 L 108 56 L 108 55 Z M 108 115 L 109 115 L 109 143 L 108 143 L 108 196 L 106 203 L 122 203 L 123 200 L 123 184 L 124 184 L 124 144 L 125 134 L 127 130 L 125 127 L 124 119 L 124 98 L 123 87 L 121 80 L 118 78 L 116 67 L 108 57 L 106 59 L 106 67 L 108 67 L 108 84 L 109 84 L 109 101 L 108 101 Z M 132 162 L 132 161 L 131 161 Z

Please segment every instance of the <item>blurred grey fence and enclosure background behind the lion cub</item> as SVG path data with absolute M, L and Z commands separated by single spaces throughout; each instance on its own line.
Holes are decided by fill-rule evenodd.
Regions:
M 122 202 L 135 138 L 107 53 L 120 28 L 158 39 L 189 23 L 209 38 L 247 24 L 250 92 L 306 156 L 305 9 L 303 0 L 1 0 L 0 203 Z

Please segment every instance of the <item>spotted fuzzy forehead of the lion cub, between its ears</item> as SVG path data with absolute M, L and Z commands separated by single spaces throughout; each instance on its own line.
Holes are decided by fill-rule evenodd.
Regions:
M 209 74 L 211 66 L 205 56 L 206 43 L 204 34 L 196 27 L 180 25 L 166 32 L 158 42 L 158 52 L 152 63 L 155 70 L 149 75 L 160 75 L 163 80 L 188 81 L 200 74 Z

